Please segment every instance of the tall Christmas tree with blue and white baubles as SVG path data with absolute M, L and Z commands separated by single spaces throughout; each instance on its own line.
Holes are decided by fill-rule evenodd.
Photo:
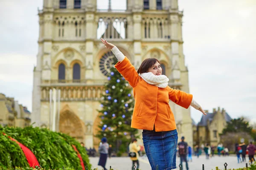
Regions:
M 99 110 L 102 120 L 96 136 L 99 139 L 106 137 L 108 143 L 120 154 L 126 152 L 131 138 L 137 137 L 137 129 L 131 128 L 134 97 L 128 82 L 116 68 L 112 67 L 110 71 L 105 94 L 102 95 L 102 109 Z

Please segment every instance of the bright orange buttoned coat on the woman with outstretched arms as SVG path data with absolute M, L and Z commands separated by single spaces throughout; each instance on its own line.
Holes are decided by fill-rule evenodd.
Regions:
M 135 106 L 131 127 L 156 132 L 176 129 L 175 118 L 169 105 L 169 99 L 183 108 L 189 108 L 192 94 L 175 90 L 167 86 L 158 88 L 145 82 L 137 73 L 129 59 L 115 65 L 120 74 L 133 88 Z

